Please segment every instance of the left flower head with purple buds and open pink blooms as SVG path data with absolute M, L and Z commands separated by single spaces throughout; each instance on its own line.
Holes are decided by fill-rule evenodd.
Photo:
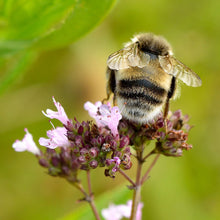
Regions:
M 70 120 L 64 108 L 53 98 L 57 111 L 50 109 L 43 114 L 50 119 L 57 119 L 63 127 L 54 127 L 47 131 L 47 138 L 41 137 L 39 144 L 46 147 L 41 151 L 35 144 L 32 135 L 26 131 L 22 141 L 16 141 L 16 151 L 29 151 L 39 159 L 39 164 L 48 169 L 48 174 L 61 176 L 68 181 L 77 181 L 78 170 L 89 170 L 107 167 L 106 176 L 114 177 L 119 167 L 129 169 L 129 139 L 119 135 L 118 124 L 121 114 L 117 107 L 97 102 L 85 104 L 85 109 L 95 119 L 82 123 Z

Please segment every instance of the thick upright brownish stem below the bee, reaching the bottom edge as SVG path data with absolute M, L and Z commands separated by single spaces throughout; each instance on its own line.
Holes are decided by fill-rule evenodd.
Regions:
M 143 149 L 144 148 L 142 146 L 136 150 L 138 165 L 137 165 L 136 182 L 135 182 L 135 188 L 134 188 L 134 194 L 133 194 L 130 220 L 136 220 L 137 207 L 141 199 L 141 170 L 142 170 L 142 165 L 143 165 Z

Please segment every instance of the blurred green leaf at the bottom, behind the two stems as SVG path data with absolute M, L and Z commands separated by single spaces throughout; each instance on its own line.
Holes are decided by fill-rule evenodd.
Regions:
M 132 191 L 129 190 L 124 185 L 116 189 L 110 190 L 104 193 L 103 195 L 99 196 L 97 199 L 95 199 L 95 204 L 100 216 L 101 216 L 101 210 L 103 208 L 107 208 L 109 204 L 111 203 L 126 204 L 127 201 L 131 199 L 131 196 L 132 196 Z M 80 220 L 94 219 L 94 215 L 88 204 L 82 205 L 80 208 L 74 210 L 73 213 L 67 215 L 61 220 L 78 220 L 78 219 Z

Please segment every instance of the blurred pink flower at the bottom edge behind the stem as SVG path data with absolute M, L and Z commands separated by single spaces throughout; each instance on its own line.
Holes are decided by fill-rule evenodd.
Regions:
M 136 220 L 141 220 L 141 209 L 143 203 L 140 203 L 137 208 Z M 130 218 L 132 209 L 132 201 L 129 200 L 126 205 L 111 204 L 107 209 L 102 210 L 102 216 L 105 220 L 120 220 L 123 218 Z

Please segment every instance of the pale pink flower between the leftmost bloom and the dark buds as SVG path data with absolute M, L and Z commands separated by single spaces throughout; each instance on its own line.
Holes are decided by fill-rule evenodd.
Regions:
M 47 131 L 47 137 L 49 139 L 41 137 L 39 139 L 39 144 L 50 149 L 55 149 L 57 147 L 69 147 L 70 142 L 66 135 L 66 128 L 57 127 L 55 129 Z

